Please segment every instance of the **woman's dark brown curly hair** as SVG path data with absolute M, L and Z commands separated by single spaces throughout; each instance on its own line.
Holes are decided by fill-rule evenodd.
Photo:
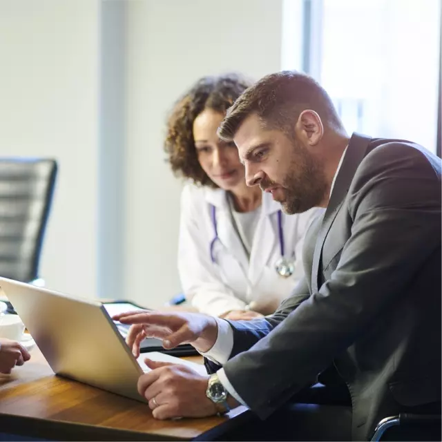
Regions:
M 203 77 L 173 106 L 167 120 L 164 151 L 175 176 L 189 178 L 195 184 L 218 187 L 202 170 L 193 140 L 193 122 L 205 108 L 225 114 L 236 99 L 251 86 L 239 74 Z

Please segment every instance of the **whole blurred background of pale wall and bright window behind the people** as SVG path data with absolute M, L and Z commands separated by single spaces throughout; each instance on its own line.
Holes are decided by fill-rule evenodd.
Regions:
M 441 0 L 0 0 L 1 155 L 59 165 L 46 286 L 148 307 L 180 291 L 162 142 L 199 77 L 302 70 L 349 133 L 436 153 L 440 51 Z

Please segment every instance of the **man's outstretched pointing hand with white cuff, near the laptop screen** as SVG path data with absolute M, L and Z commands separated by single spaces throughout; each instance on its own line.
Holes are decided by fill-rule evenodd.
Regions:
M 140 356 L 144 338 L 161 339 L 166 349 L 190 343 L 204 353 L 213 347 L 218 336 L 215 318 L 198 313 L 137 310 L 117 314 L 113 320 L 132 325 L 126 343 L 135 357 Z

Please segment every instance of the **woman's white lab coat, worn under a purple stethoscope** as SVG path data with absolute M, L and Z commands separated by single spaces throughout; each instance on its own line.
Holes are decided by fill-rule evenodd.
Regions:
M 215 237 L 211 205 L 216 208 L 218 238 Z M 302 244 L 305 231 L 318 209 L 299 215 L 282 213 L 286 258 L 294 256 L 295 271 L 289 278 L 280 276 L 278 236 L 280 204 L 271 193 L 262 194 L 260 219 L 253 236 L 250 260 L 231 222 L 226 192 L 188 184 L 181 196 L 178 271 L 186 299 L 199 311 L 219 316 L 230 310 L 251 309 L 273 312 L 289 296 L 302 277 Z

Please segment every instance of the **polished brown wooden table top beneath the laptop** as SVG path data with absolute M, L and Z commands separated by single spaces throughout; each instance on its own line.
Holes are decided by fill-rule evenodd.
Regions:
M 211 440 L 249 419 L 238 407 L 222 417 L 158 421 L 143 403 L 55 376 L 37 347 L 31 355 L 0 375 L 1 432 L 58 441 Z

